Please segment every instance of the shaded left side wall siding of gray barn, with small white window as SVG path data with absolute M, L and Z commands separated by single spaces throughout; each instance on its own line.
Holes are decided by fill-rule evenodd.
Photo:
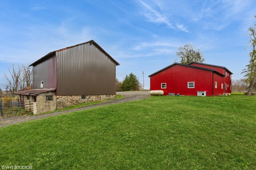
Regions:
M 56 55 L 33 66 L 32 89 L 56 89 Z M 44 81 L 43 88 L 40 87 Z

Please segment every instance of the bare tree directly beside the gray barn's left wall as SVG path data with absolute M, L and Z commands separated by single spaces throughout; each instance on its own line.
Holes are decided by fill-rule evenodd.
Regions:
M 32 84 L 32 69 L 29 66 L 22 65 L 20 82 L 20 89 L 24 89 Z

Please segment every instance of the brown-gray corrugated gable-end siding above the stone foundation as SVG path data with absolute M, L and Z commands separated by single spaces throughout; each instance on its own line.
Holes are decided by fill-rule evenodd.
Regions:
M 57 95 L 116 94 L 116 63 L 90 43 L 56 52 Z

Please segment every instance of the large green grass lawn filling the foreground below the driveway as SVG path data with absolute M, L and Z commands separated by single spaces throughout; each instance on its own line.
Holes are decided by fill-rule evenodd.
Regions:
M 256 97 L 154 96 L 0 128 L 0 166 L 256 169 Z

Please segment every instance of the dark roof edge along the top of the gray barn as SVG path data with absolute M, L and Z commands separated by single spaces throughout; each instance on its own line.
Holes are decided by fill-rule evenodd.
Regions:
M 65 49 L 69 49 L 69 48 L 72 48 L 72 47 L 76 47 L 78 45 L 82 45 L 82 44 L 85 44 L 85 43 L 90 43 L 90 44 L 94 44 L 98 49 L 100 49 L 100 51 L 102 51 L 102 53 L 104 53 L 105 55 L 107 55 L 110 59 L 112 59 L 112 61 L 114 61 L 114 63 L 116 63 L 116 65 L 120 65 L 113 57 L 111 57 L 102 47 L 100 47 L 100 45 L 98 45 L 94 40 L 90 40 L 88 42 L 84 42 L 84 43 L 79 43 L 79 44 L 76 44 L 76 45 L 72 45 L 70 47 L 66 47 L 66 48 L 62 48 L 62 49 L 58 49 L 58 50 L 55 50 L 55 51 L 52 51 L 46 55 L 44 55 L 44 57 L 38 59 L 37 61 L 35 61 L 34 63 L 30 64 L 29 66 L 32 66 L 32 65 L 36 65 L 42 61 L 44 61 L 45 59 L 47 59 L 48 57 L 56 54 L 56 52 L 59 52 L 59 51 L 63 51 Z

